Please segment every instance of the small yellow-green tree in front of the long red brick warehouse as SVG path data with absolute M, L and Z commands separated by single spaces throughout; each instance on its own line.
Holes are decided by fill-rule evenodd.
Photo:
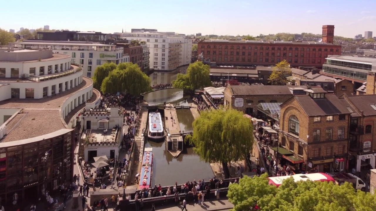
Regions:
M 291 75 L 290 64 L 283 60 L 273 67 L 273 71 L 268 78 L 268 81 L 272 85 L 286 85 L 288 83 L 287 77 Z

